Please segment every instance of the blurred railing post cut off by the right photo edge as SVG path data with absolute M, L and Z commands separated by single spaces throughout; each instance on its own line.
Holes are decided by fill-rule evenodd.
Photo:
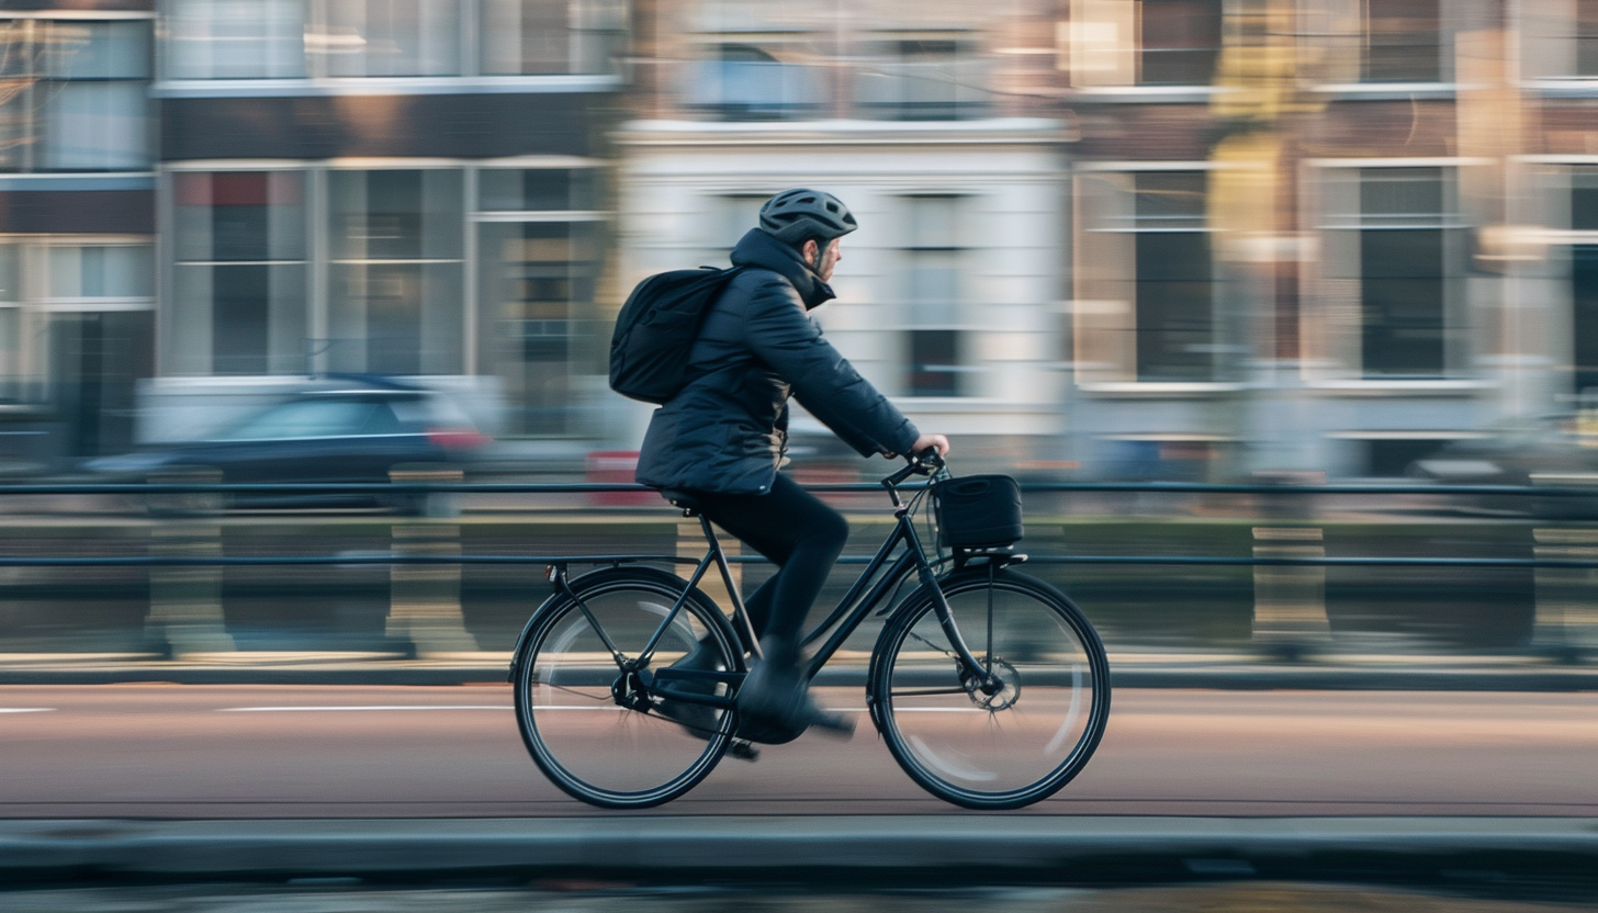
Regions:
M 1531 531 L 1539 560 L 1598 560 L 1598 529 L 1544 528 Z M 1537 568 L 1532 649 L 1577 659 L 1598 651 L 1598 569 Z

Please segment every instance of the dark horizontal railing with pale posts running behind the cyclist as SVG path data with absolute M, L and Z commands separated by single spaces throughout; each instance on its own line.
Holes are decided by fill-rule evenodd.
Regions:
M 871 483 L 820 483 L 807 486 L 821 494 L 877 496 L 871 510 L 887 515 L 885 499 L 879 484 Z M 908 484 L 906 491 L 922 486 Z M 1553 649 L 1561 657 L 1585 657 L 1598 652 L 1598 577 L 1584 571 L 1598 569 L 1598 523 L 1566 520 L 1532 520 L 1537 529 L 1513 537 L 1531 547 L 1532 556 L 1328 556 L 1325 528 L 1334 528 L 1342 520 L 1322 518 L 1309 504 L 1288 507 L 1286 499 L 1314 499 L 1325 496 L 1424 496 L 1424 497 L 1502 497 L 1515 499 L 1593 499 L 1598 504 L 1598 486 L 1438 486 L 1438 484 L 1206 484 L 1206 483 L 1026 483 L 1021 486 L 1031 496 L 1254 496 L 1258 500 L 1235 504 L 1237 513 L 1229 520 L 1246 523 L 1250 536 L 1232 539 L 1232 555 L 1031 555 L 1034 564 L 1104 564 L 1104 566 L 1211 566 L 1253 568 L 1251 638 L 1270 656 L 1296 659 L 1315 644 L 1331 643 L 1331 614 L 1328 614 L 1326 568 L 1473 568 L 1473 569 L 1536 569 L 1532 584 L 1531 643 L 1537 649 Z M 235 630 L 224 612 L 224 568 L 262 566 L 323 566 L 323 568 L 388 568 L 388 612 L 385 638 L 407 641 L 414 657 L 449 657 L 462 651 L 479 649 L 465 627 L 462 603 L 463 571 L 467 566 L 548 566 L 548 564 L 622 564 L 662 563 L 694 564 L 703 553 L 698 524 L 676 520 L 674 555 L 610 553 L 610 555 L 562 555 L 523 553 L 484 555 L 465 553 L 471 540 L 463 536 L 463 526 L 454 518 L 395 516 L 390 521 L 392 539 L 387 547 L 360 553 L 323 555 L 225 555 L 221 515 L 227 496 L 372 496 L 384 499 L 422 496 L 650 496 L 654 489 L 625 483 L 470 483 L 457 480 L 393 481 L 364 484 L 331 483 L 216 483 L 216 481 L 153 481 L 153 483 L 42 483 L 0 484 L 0 505 L 6 497 L 30 496 L 133 496 L 147 497 L 152 513 L 150 536 L 145 553 L 125 555 L 0 555 L 0 568 L 144 568 L 150 592 L 149 611 L 144 616 L 145 633 L 152 643 L 168 644 L 161 656 L 209 656 L 237 651 Z M 417 504 L 417 500 L 412 500 Z M 459 500 L 447 502 L 459 507 Z M 81 505 L 78 505 L 81 507 Z M 129 505 L 121 504 L 126 510 Z M 470 508 L 470 505 L 467 505 Z M 559 507 L 615 513 L 618 518 L 652 513 L 662 518 L 674 510 L 665 500 L 652 504 L 575 504 L 567 499 Z M 865 504 L 860 505 L 865 508 Z M 529 507 L 529 510 L 542 510 Z M 470 513 L 470 510 L 468 510 Z M 1047 516 L 1055 516 L 1050 510 Z M 1042 513 L 1034 510 L 1034 523 Z M 1069 513 L 1058 513 L 1066 518 Z M 321 520 L 321 518 L 315 518 Z M 559 521 L 559 515 L 551 516 Z M 1159 523 L 1159 518 L 1139 518 Z M 1593 512 L 1598 521 L 1598 510 Z M 387 521 L 387 520 L 385 520 Z M 919 523 L 919 521 L 917 521 Z M 137 539 L 137 537 L 136 537 Z M 1529 542 L 1526 542 L 1529 539 Z M 1036 539 L 1034 539 L 1036 542 Z M 928 542 L 930 544 L 930 542 Z M 139 548 L 133 545 L 133 548 Z M 729 542 L 729 545 L 733 545 Z M 58 552 L 69 545 L 54 547 Z M 302 545 L 304 547 L 304 545 Z M 1354 545 L 1358 547 L 1358 545 Z M 1501 545 L 1502 547 L 1502 545 Z M 1520 545 L 1515 545 L 1520 548 Z M 1173 548 L 1173 550 L 1179 550 Z M 1189 545 L 1187 550 L 1194 547 Z M 307 548 L 308 550 L 308 548 Z M 1235 552 L 1250 552 L 1240 555 Z M 756 555 L 729 553 L 737 564 L 759 564 L 765 560 Z M 844 564 L 869 561 L 866 556 L 845 556 Z M 431 566 L 431 568 L 417 568 Z M 58 576 L 51 576 L 54 580 Z M 61 574 L 61 579 L 69 574 Z M 1128 574 L 1128 579 L 1133 577 Z M 741 580 L 741 572 L 740 572 Z M 259 580 L 257 580 L 259 582 Z M 32 580 L 30 585 L 54 585 Z M 304 582 L 305 585 L 313 585 Z M 1136 582 L 1135 582 L 1136 584 Z M 1242 580 L 1234 580 L 1242 584 Z M 718 584 L 713 584 L 713 588 Z M 738 584 L 741 585 L 741 582 Z M 1518 585 L 1518 584 L 1517 584 Z M 718 598 L 711 593 L 711 598 Z M 387 641 L 385 641 L 387 643 Z M 1318 648 L 1315 648 L 1318 649 Z

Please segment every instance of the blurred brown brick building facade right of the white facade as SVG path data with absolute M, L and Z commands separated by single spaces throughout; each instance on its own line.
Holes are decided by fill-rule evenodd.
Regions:
M 1598 5 L 1063 11 L 1090 453 L 1397 475 L 1592 385 Z

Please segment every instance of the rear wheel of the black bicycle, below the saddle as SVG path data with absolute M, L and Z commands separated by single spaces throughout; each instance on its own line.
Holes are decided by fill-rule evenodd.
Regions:
M 516 721 L 532 760 L 570 796 L 612 809 L 658 806 L 694 788 L 727 750 L 732 710 L 679 700 L 689 728 L 662 716 L 655 694 L 654 673 L 700 643 L 711 651 L 700 654 L 705 665 L 743 668 L 730 625 L 705 593 L 689 593 L 641 675 L 606 644 L 623 662 L 636 659 L 682 588 L 679 577 L 649 568 L 596 571 L 572 582 L 582 604 L 558 595 L 529 622 L 513 676 Z M 695 684 L 730 692 L 719 681 Z

